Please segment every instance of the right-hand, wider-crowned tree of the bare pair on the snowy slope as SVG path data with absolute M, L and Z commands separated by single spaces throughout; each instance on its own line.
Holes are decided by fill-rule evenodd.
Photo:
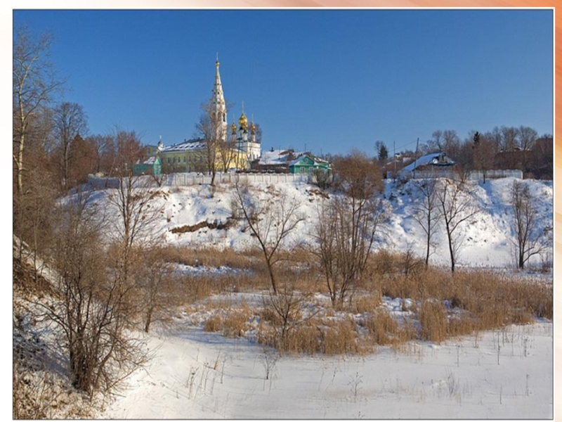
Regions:
M 460 228 L 479 212 L 474 199 L 462 181 L 440 179 L 436 197 L 440 207 L 440 215 L 445 223 L 447 243 L 451 259 L 451 271 L 455 271 L 455 264 L 459 259 L 463 236 Z

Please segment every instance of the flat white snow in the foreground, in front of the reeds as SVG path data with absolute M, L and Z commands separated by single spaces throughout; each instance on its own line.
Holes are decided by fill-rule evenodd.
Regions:
M 105 418 L 552 418 L 553 327 L 509 326 L 365 357 L 281 357 L 184 326 Z M 269 372 L 269 379 L 266 375 Z

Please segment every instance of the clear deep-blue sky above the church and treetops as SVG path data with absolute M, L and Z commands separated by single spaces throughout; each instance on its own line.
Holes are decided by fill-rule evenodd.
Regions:
M 55 37 L 91 134 L 116 126 L 143 143 L 189 139 L 219 53 L 233 111 L 263 149 L 374 154 L 415 148 L 436 129 L 553 129 L 550 10 L 14 11 Z

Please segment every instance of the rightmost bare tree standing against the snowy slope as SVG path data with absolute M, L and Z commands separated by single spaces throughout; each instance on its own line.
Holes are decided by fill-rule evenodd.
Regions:
M 527 184 L 515 180 L 511 185 L 510 196 L 516 236 L 516 260 L 518 267 L 523 269 L 532 256 L 549 248 L 552 228 L 539 226 L 539 210 Z

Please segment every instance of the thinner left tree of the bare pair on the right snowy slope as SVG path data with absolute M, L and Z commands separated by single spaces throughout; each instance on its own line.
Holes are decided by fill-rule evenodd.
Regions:
M 421 201 L 415 203 L 412 217 L 419 224 L 426 234 L 426 267 L 429 265 L 429 255 L 433 248 L 433 234 L 436 231 L 436 224 L 440 220 L 440 208 L 437 202 L 436 179 L 415 179 L 412 180 L 415 188 L 421 193 Z

